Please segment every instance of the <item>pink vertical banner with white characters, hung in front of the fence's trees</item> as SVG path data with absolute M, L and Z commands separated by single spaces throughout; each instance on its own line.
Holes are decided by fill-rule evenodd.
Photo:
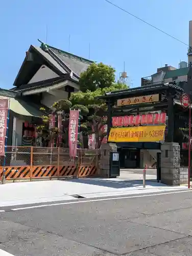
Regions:
M 70 157 L 77 155 L 77 142 L 79 130 L 79 110 L 70 110 L 68 127 L 68 144 Z

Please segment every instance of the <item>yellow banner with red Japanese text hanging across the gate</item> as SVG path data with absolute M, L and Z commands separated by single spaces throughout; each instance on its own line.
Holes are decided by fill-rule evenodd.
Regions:
M 111 128 L 108 142 L 157 142 L 164 139 L 165 125 Z

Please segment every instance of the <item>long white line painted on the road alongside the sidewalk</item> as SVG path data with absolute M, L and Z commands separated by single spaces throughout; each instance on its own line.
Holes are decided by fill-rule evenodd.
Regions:
M 114 197 L 114 198 L 102 198 L 102 199 L 93 199 L 93 200 L 84 200 L 84 201 L 74 201 L 74 202 L 65 202 L 65 203 L 55 203 L 55 204 L 43 204 L 43 205 L 35 205 L 29 207 L 21 207 L 21 208 L 13 208 L 12 210 L 25 210 L 25 209 L 33 209 L 33 208 L 40 208 L 46 206 L 57 206 L 57 205 L 65 205 L 65 204 L 78 204 L 78 203 L 90 203 L 90 202 L 99 202 L 99 201 L 109 201 L 109 200 L 118 200 L 118 199 L 128 199 L 128 198 L 137 198 L 137 197 L 152 197 L 152 196 L 161 196 L 161 195 L 169 195 L 169 194 L 177 194 L 177 193 L 185 193 L 191 192 L 192 190 L 184 190 L 184 191 L 175 191 L 175 192 L 168 192 L 168 193 L 160 193 L 160 194 L 147 194 L 147 195 L 139 195 L 139 196 L 131 196 L 131 197 Z M 0 254 L 1 255 L 1 254 Z

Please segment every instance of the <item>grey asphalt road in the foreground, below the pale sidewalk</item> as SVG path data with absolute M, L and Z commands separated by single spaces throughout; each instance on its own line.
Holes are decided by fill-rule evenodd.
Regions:
M 6 208 L 0 212 L 0 249 L 15 256 L 192 253 L 192 191 L 74 202 Z

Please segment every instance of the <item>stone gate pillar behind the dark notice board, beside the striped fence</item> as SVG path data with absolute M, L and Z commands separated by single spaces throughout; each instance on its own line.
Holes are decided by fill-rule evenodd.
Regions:
M 101 157 L 99 166 L 101 177 L 109 178 L 110 153 L 116 151 L 117 146 L 115 143 L 103 143 L 101 145 Z

